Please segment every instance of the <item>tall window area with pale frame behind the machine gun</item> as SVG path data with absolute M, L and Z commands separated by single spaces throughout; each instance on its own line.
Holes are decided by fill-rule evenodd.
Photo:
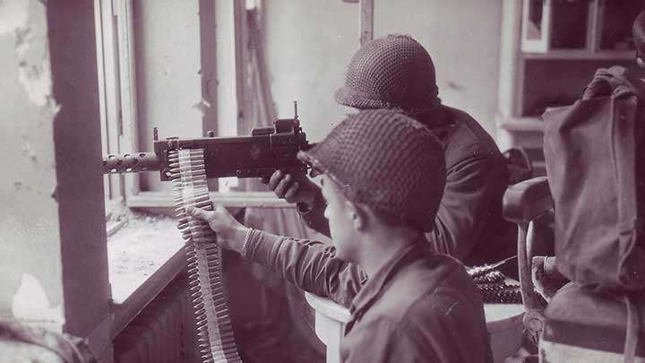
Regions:
M 270 125 L 259 3 L 95 0 L 104 153 L 150 151 L 153 127 L 160 138 L 194 138 Z M 105 185 L 107 214 L 122 203 L 172 206 L 171 186 L 155 173 L 109 175 Z M 245 182 L 211 181 L 211 190 L 229 189 Z

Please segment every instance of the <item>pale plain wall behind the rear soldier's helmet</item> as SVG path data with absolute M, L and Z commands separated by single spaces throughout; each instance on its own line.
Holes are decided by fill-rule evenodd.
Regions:
M 358 5 L 271 0 L 266 42 L 271 91 L 281 117 L 291 100 L 311 141 L 321 140 L 349 111 L 333 92 L 358 44 Z M 440 97 L 495 133 L 502 1 L 374 1 L 374 37 L 404 33 L 433 56 Z

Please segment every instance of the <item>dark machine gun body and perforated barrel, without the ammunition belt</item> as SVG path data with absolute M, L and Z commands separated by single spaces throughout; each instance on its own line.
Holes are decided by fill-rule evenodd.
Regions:
M 170 180 L 168 151 L 203 149 L 206 177 L 267 177 L 275 170 L 306 173 L 306 166 L 297 160 L 298 151 L 311 148 L 294 118 L 275 120 L 273 127 L 254 128 L 250 136 L 202 137 L 158 140 L 154 130 L 154 152 L 133 152 L 108 155 L 103 159 L 103 173 L 129 173 L 159 170 L 162 181 Z

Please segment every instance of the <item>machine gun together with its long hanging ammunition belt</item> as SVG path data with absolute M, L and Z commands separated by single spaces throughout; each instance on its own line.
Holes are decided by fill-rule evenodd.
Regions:
M 274 127 L 255 128 L 250 136 L 159 140 L 153 131 L 154 152 L 108 155 L 103 173 L 159 171 L 162 181 L 173 181 L 178 228 L 185 239 L 189 285 L 197 339 L 203 362 L 240 362 L 228 317 L 221 277 L 217 238 L 208 224 L 185 212 L 188 205 L 212 210 L 207 178 L 268 177 L 275 170 L 306 173 L 298 151 L 312 145 L 300 127 L 297 103 L 294 118 L 277 119 Z M 208 243 L 211 242 L 211 243 Z

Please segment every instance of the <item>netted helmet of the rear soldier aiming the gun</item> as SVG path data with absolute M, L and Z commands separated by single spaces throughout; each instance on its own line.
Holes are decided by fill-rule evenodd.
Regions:
M 415 39 L 390 35 L 358 49 L 335 99 L 352 108 L 400 108 L 423 114 L 439 102 L 430 55 Z

